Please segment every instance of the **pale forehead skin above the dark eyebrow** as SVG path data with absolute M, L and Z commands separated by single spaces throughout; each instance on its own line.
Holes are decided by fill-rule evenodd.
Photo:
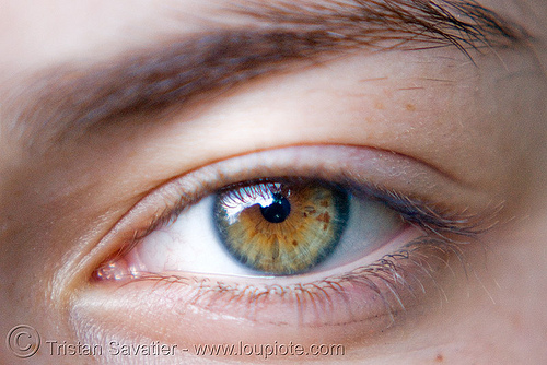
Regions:
M 0 45 L 10 51 L 2 55 L 1 66 L 9 70 L 104 57 L 150 42 L 156 32 L 196 32 L 214 21 L 233 25 L 233 21 L 219 16 L 217 11 L 226 8 L 226 3 L 237 2 L 167 0 L 158 4 L 148 0 L 115 3 L 50 0 L 31 4 L 2 1 Z M 543 22 L 547 15 L 542 1 L 487 0 L 480 4 L 525 24 L 535 36 L 546 36 Z

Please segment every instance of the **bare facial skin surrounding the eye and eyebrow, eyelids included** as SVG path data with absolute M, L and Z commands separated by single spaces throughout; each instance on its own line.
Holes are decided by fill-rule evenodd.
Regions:
M 265 62 L 256 78 L 242 76 L 230 87 L 206 84 L 188 102 L 175 93 L 162 110 L 151 110 L 141 99 L 128 108 L 115 107 L 106 97 L 130 99 L 135 94 L 121 87 L 127 86 L 124 80 L 138 78 L 116 79 L 116 86 L 108 81 L 116 81 L 132 59 L 156 55 L 173 35 L 199 39 L 211 30 L 270 31 L 276 25 L 226 10 L 259 12 L 261 1 L 253 7 L 230 2 L 247 8 L 230 8 L 225 1 L 196 3 L 2 2 L 0 333 L 28 325 L 40 333 L 42 346 L 27 360 L 2 346 L 0 362 L 139 363 L 138 356 L 50 354 L 46 342 L 112 340 L 189 349 L 140 360 L 158 364 L 264 360 L 200 357 L 194 352 L 196 344 L 238 341 L 345 348 L 344 355 L 296 362 L 540 363 L 547 356 L 543 1 L 482 1 L 496 19 L 509 20 L 503 30 L 516 32 L 513 39 L 491 31 L 493 35 L 485 35 L 491 46 L 475 39 L 463 43 L 462 51 L 451 42 L 433 47 L 431 39 L 420 38 L 395 47 L 399 33 L 395 43 L 381 39 L 387 49 L 352 42 L 325 55 L 311 51 L 302 59 L 272 62 L 271 70 Z M 511 22 L 525 26 L 529 37 Z M 138 75 L 146 70 L 139 69 Z M 138 90 L 146 94 L 146 87 Z M 94 113 L 88 114 L 91 106 Z M 104 110 L 117 114 L 93 119 Z M 88 127 L 89 120 L 93 126 Z M 268 301 L 256 302 L 265 307 L 256 305 L 252 316 L 247 309 L 253 301 L 238 301 L 242 293 L 206 305 L 191 302 L 193 286 L 181 282 L 92 280 L 121 243 L 146 229 L 173 201 L 194 207 L 230 184 L 288 175 L 328 179 L 342 173 L 491 229 L 470 238 L 449 233 L 440 247 L 454 247 L 452 239 L 457 248 L 442 255 L 420 250 L 420 259 L 414 256 L 418 266 L 401 260 L 414 290 L 398 283 L 397 295 L 385 294 L 397 308 L 394 318 L 385 307 L 374 306 L 379 299 L 370 290 L 356 287 L 347 293 L 351 305 L 331 299 L 337 310 L 330 310 L 337 314 L 327 308 L 310 315 L 313 308 L 305 306 L 304 318 L 313 319 L 302 323 L 294 303 L 271 293 Z M 412 236 L 419 227 L 408 229 Z M 377 258 L 407 244 L 403 238 L 379 249 Z M 352 269 L 371 263 L 362 256 Z M 347 270 L 333 272 L 339 276 Z M 190 282 L 208 276 L 175 274 Z M 292 289 L 314 282 L 313 275 L 323 274 L 271 283 Z M 257 278 L 209 276 L 230 287 L 264 285 Z M 395 304 L 397 298 L 403 305 Z M 287 358 L 278 355 L 267 362 Z

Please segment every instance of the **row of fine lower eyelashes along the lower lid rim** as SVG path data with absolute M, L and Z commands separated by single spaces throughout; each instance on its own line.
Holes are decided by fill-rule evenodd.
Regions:
M 189 305 L 213 311 L 213 307 L 219 303 L 222 307 L 226 304 L 244 304 L 243 307 L 246 308 L 244 318 L 260 322 L 263 322 L 259 319 L 260 310 L 267 307 L 269 302 L 295 303 L 301 326 L 324 323 L 335 310 L 346 310 L 351 315 L 356 304 L 350 303 L 350 292 L 358 289 L 381 303 L 383 308 L 371 316 L 377 317 L 377 314 L 382 313 L 385 316 L 384 326 L 388 328 L 397 317 L 407 311 L 414 303 L 412 299 L 426 294 L 429 289 L 439 293 L 441 302 L 447 301 L 434 274 L 441 269 L 452 271 L 450 257 L 454 256 L 465 268 L 466 261 L 459 248 L 462 244 L 466 243 L 455 243 L 428 235 L 412 240 L 394 254 L 385 255 L 372 264 L 359 267 L 339 276 L 328 276 L 303 284 L 255 286 L 212 282 L 191 275 L 140 273 L 138 276 L 130 276 L 131 280 L 124 285 L 142 281 L 154 282 L 154 290 L 162 286 L 185 285 L 191 290 L 191 297 L 187 301 Z M 352 301 L 356 301 L 354 296 Z M 347 307 L 340 308 L 335 303 L 345 303 Z M 356 322 L 356 319 L 347 320 Z M 337 322 L 328 325 L 344 323 L 338 319 Z

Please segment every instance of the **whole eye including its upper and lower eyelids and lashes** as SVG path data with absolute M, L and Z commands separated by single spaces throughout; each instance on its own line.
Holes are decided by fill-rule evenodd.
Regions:
M 437 270 L 478 234 L 469 201 L 484 203 L 424 164 L 362 148 L 220 161 L 166 181 L 118 222 L 90 254 L 74 316 L 101 322 L 106 304 L 131 308 L 143 316 L 119 319 L 131 331 L 155 318 L 182 342 L 197 322 L 218 341 L 241 321 L 265 338 L 381 331 L 434 293 Z

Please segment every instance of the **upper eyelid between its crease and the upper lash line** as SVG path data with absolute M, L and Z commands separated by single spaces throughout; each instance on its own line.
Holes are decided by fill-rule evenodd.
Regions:
M 321 152 L 319 152 L 321 150 Z M 397 170 L 397 163 L 395 162 L 401 162 L 405 168 L 401 169 L 409 169 L 407 167 L 407 157 L 404 155 L 397 155 L 394 153 L 388 153 L 388 154 L 383 154 L 383 152 L 377 151 L 377 150 L 370 150 L 366 148 L 353 148 L 353 146 L 344 146 L 344 145 L 324 145 L 324 146 L 295 146 L 295 148 L 282 148 L 282 149 L 276 149 L 271 151 L 260 151 L 257 153 L 252 153 L 248 155 L 243 155 L 243 156 L 236 156 L 236 157 L 231 157 L 226 158 L 224 161 L 213 163 L 207 166 L 203 166 L 201 168 L 198 168 L 195 172 L 190 172 L 188 174 L 185 174 L 181 177 L 176 177 L 171 179 L 167 182 L 164 182 L 162 187 L 165 187 L 166 190 L 162 190 L 162 187 L 159 188 L 158 192 L 163 195 L 167 193 L 172 197 L 179 197 L 177 199 L 176 203 L 176 209 L 161 209 L 156 210 L 156 213 L 154 214 L 154 221 L 156 224 L 165 223 L 165 221 L 171 220 L 173 215 L 176 215 L 181 213 L 182 210 L 185 209 L 186 205 L 191 204 L 193 202 L 203 198 L 207 195 L 213 193 L 218 191 L 219 189 L 225 188 L 226 186 L 230 185 L 237 185 L 237 184 L 247 184 L 248 180 L 256 180 L 260 178 L 283 178 L 283 177 L 289 177 L 289 178 L 317 178 L 317 179 L 324 179 L 328 180 L 330 182 L 335 184 L 341 184 L 345 187 L 349 188 L 356 188 L 358 190 L 361 190 L 361 192 L 364 192 L 364 195 L 376 198 L 380 200 L 383 200 L 386 202 L 388 205 L 394 208 L 397 211 L 400 211 L 405 213 L 406 209 L 406 214 L 410 215 L 412 214 L 412 209 L 416 209 L 417 207 L 437 207 L 438 210 L 435 211 L 430 211 L 430 212 L 417 212 L 417 215 L 420 216 L 427 216 L 430 215 L 432 216 L 432 220 L 441 220 L 442 217 L 445 219 L 446 222 L 452 222 L 457 220 L 462 221 L 463 216 L 466 215 L 467 217 L 473 216 L 473 214 L 463 214 L 464 211 L 470 211 L 473 212 L 474 209 L 470 205 L 462 205 L 457 204 L 454 201 L 451 201 L 450 198 L 445 200 L 441 200 L 441 195 L 433 193 L 434 188 L 442 186 L 440 181 L 444 181 L 447 186 L 450 186 L 453 190 L 457 190 L 455 187 L 457 184 L 454 184 L 453 180 L 444 176 L 441 172 L 435 170 L 431 168 L 431 166 L 423 164 L 421 162 L 414 162 L 411 161 L 410 164 L 414 165 L 414 168 L 417 169 L 417 172 L 412 175 L 407 176 L 408 179 L 412 180 L 418 180 L 418 176 L 423 178 L 426 175 L 437 175 L 433 177 L 432 181 L 434 181 L 434 187 L 433 182 L 429 182 L 427 178 L 424 178 L 424 181 L 420 181 L 423 187 L 429 186 L 429 190 L 427 193 L 423 192 L 421 195 L 421 198 L 418 198 L 420 195 L 417 193 L 416 188 L 409 187 L 407 181 L 403 181 L 399 187 L 393 187 L 393 188 L 387 188 L 388 186 L 393 185 L 393 182 L 381 182 L 381 177 L 382 173 L 374 172 L 371 175 L 370 178 L 363 178 L 362 176 L 353 176 L 354 175 L 354 168 L 345 166 L 344 168 L 339 169 L 338 173 L 334 172 L 327 172 L 325 175 L 321 175 L 326 172 L 326 166 L 314 166 L 312 169 L 310 169 L 310 166 L 303 166 L 299 165 L 295 169 L 293 169 L 291 166 L 287 165 L 287 162 L 277 162 L 276 156 L 271 157 L 269 161 L 266 158 L 269 154 L 276 154 L 278 152 L 280 153 L 288 153 L 291 154 L 294 151 L 307 151 L 304 152 L 304 154 L 309 153 L 310 155 L 312 154 L 321 154 L 323 156 L 333 156 L 335 153 L 334 151 L 336 150 L 341 150 L 344 152 L 347 151 L 361 151 L 361 152 L 371 152 L 372 156 L 377 157 L 377 155 L 381 155 L 376 163 L 380 167 L 380 169 L 384 168 L 383 164 L 393 164 L 392 169 L 395 169 L 397 175 L 397 179 L 399 180 L 405 180 L 404 176 L 405 173 L 401 170 Z M 369 155 L 370 156 L 370 155 Z M 318 158 L 321 160 L 321 158 Z M 336 158 L 335 158 L 336 160 Z M 365 161 L 366 157 L 363 156 L 363 161 Z M 371 158 L 374 160 L 374 158 Z M 382 161 L 384 160 L 384 161 Z M 398 161 L 399 160 L 399 161 Z M 271 162 L 272 165 L 268 166 L 268 162 Z M 373 163 L 373 164 L 374 164 Z M 237 165 L 246 166 L 246 167 L 236 167 Z M 256 166 L 253 166 L 253 164 L 256 164 Z M 304 165 L 307 165 L 305 163 Z M 248 167 L 252 166 L 252 167 Z M 255 169 L 259 166 L 259 174 Z M 399 165 L 401 166 L 401 165 Z M 418 168 L 418 167 L 423 167 L 423 168 Z M 253 170 L 249 173 L 248 168 L 252 168 Z M 219 169 L 223 169 L 223 172 L 220 172 Z M 348 170 L 349 169 L 349 170 Z M 373 168 L 374 169 L 374 168 Z M 302 175 L 305 174 L 305 175 Z M 392 172 L 387 172 L 388 179 L 393 180 L 392 176 L 389 176 Z M 400 175 L 400 176 L 399 176 Z M 337 181 L 331 181 L 329 179 L 331 178 L 337 178 Z M 195 182 L 189 182 L 189 180 L 194 180 Z M 199 181 L 199 182 L 196 182 Z M 401 182 L 401 181 L 399 181 Z M 188 184 L 197 184 L 196 188 L 197 190 L 193 189 L 193 187 L 189 187 Z M 406 188 L 406 189 L 405 189 Z M 364 191 L 363 191 L 364 190 Z M 446 188 L 449 190 L 449 188 Z M 461 189 L 459 191 L 464 191 L 467 189 Z M 196 192 L 198 191 L 198 192 Z M 467 190 L 468 191 L 468 190 Z M 155 192 L 152 191 L 150 195 L 154 195 Z M 417 197 L 417 198 L 411 198 L 411 197 Z M 443 197 L 445 198 L 445 197 Z M 478 192 L 475 195 L 475 199 L 473 199 L 474 202 L 477 202 L 477 207 L 491 207 L 492 204 L 490 202 L 487 202 L 487 200 L 481 199 L 482 193 Z M 175 198 L 176 199 L 176 198 Z M 435 200 L 437 199 L 437 200 Z M 395 203 L 397 201 L 397 203 Z M 449 209 L 449 207 L 453 207 L 453 209 Z M 500 210 L 502 204 L 496 204 L 496 208 L 492 208 L 491 211 L 498 211 Z M 457 208 L 459 207 L 459 208 Z M 462 212 L 462 214 L 458 214 Z M 437 216 L 435 216 L 437 215 Z M 450 216 L 453 216 L 454 219 L 451 219 Z M 464 222 L 461 222 L 464 223 Z

